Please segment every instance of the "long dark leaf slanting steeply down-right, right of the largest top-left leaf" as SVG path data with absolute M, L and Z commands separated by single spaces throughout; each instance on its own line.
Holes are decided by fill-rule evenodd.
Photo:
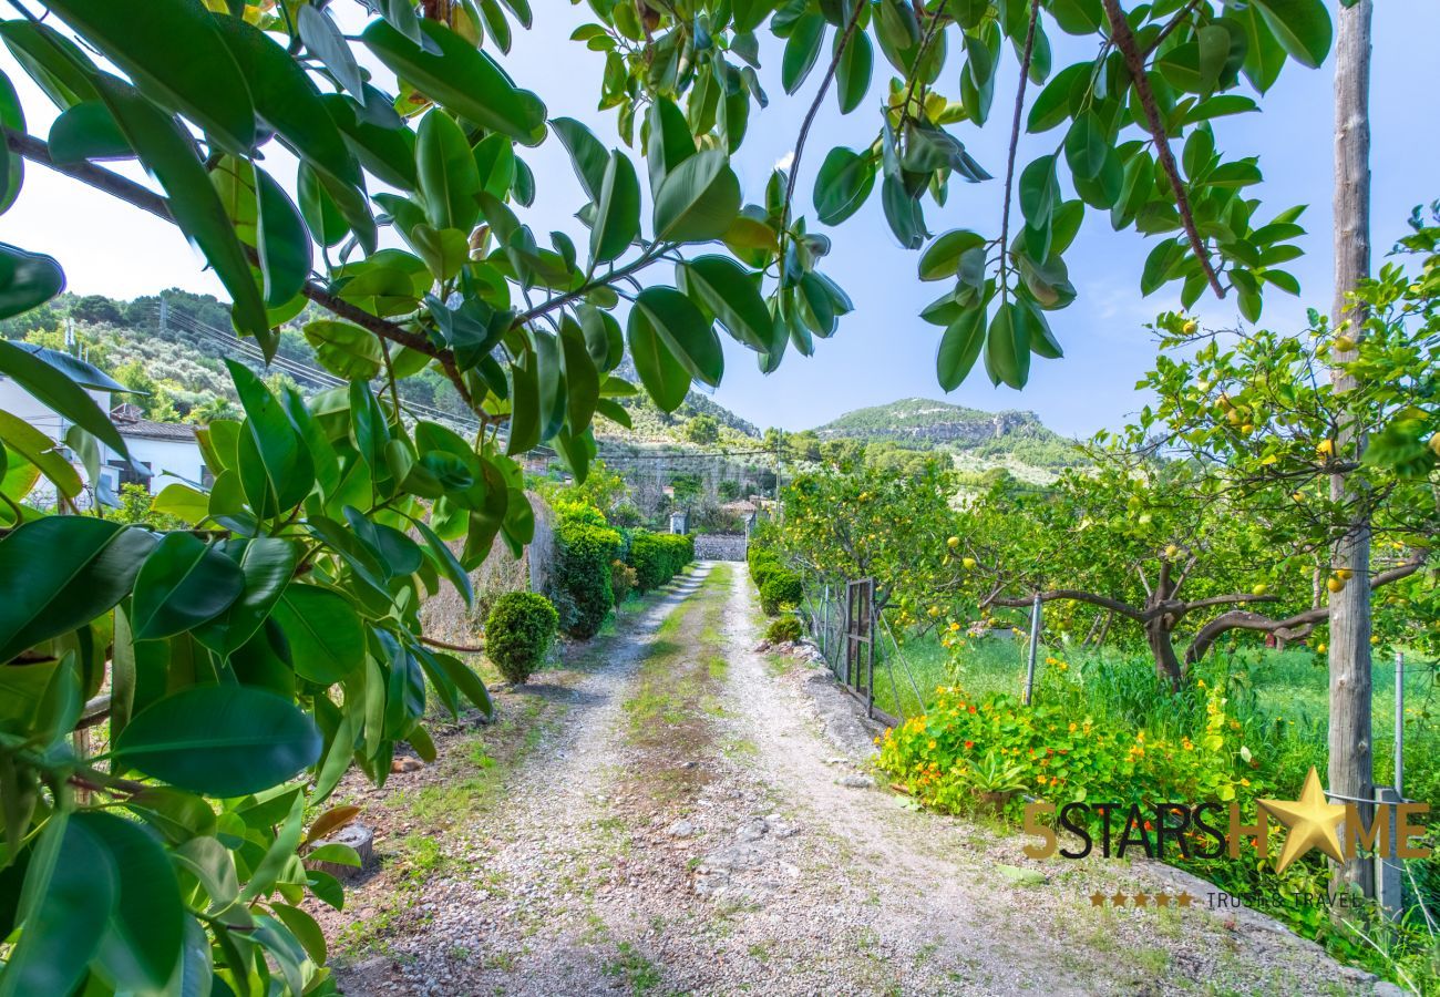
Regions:
M 261 120 L 336 180 L 360 186 L 360 164 L 325 111 L 310 73 L 271 36 L 239 17 L 217 17 L 216 24 L 245 75 Z

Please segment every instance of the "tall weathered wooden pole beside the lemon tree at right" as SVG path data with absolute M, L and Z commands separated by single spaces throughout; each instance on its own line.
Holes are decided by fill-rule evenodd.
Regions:
M 1338 9 L 1339 33 L 1335 46 L 1335 333 L 1359 339 L 1365 318 L 1351 308 L 1348 295 L 1369 275 L 1369 24 L 1371 0 Z M 1348 330 L 1344 323 L 1349 323 Z M 1355 353 L 1335 350 L 1336 362 Z M 1355 386 L 1339 367 L 1331 380 L 1336 392 Z M 1358 460 L 1365 437 L 1342 425 L 1333 458 Z M 1331 497 L 1346 501 L 1352 484 L 1344 474 L 1331 477 Z M 1335 547 L 1335 568 L 1354 572 L 1354 584 L 1331 596 L 1331 729 L 1329 790 L 1346 797 L 1374 797 L 1371 758 L 1371 660 L 1369 660 L 1369 522 L 1358 517 L 1348 524 Z M 1368 818 L 1368 815 L 1367 815 Z M 1374 896 L 1371 863 L 1355 859 L 1335 867 L 1333 889 L 1346 883 Z

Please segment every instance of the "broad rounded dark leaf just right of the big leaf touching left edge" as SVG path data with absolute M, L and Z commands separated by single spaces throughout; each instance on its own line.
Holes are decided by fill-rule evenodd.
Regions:
M 213 620 L 245 589 L 239 566 L 192 533 L 167 533 L 135 578 L 135 637 L 171 637 Z

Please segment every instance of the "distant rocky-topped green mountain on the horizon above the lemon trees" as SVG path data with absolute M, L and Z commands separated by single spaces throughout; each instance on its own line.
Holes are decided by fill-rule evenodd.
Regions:
M 1058 470 L 1080 462 L 1074 441 L 1050 429 L 1034 412 L 982 412 L 929 398 L 901 398 L 855 409 L 818 426 L 815 435 L 952 451 L 962 465 Z

